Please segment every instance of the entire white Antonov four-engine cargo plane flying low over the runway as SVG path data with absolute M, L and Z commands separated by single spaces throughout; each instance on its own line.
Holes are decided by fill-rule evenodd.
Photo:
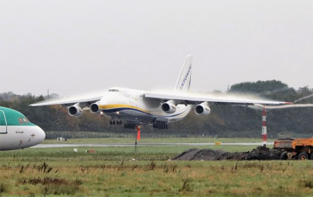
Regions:
M 63 105 L 70 116 L 80 116 L 83 109 L 112 118 L 110 124 L 134 129 L 136 125 L 153 125 L 154 128 L 167 129 L 169 122 L 183 119 L 192 108 L 197 115 L 209 115 L 211 104 L 253 105 L 288 104 L 286 102 L 199 96 L 190 94 L 192 55 L 187 55 L 180 70 L 174 90 L 160 93 L 129 88 L 110 88 L 108 92 L 81 99 L 61 99 L 43 101 L 31 106 Z

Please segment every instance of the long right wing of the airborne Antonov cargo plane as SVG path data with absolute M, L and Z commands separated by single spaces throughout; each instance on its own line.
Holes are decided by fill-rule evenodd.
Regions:
M 162 101 L 168 100 L 176 100 L 179 101 L 181 104 L 189 104 L 189 105 L 197 105 L 202 102 L 212 102 L 219 105 L 254 105 L 254 104 L 291 104 L 289 102 L 279 102 L 279 101 L 267 101 L 267 100 L 254 100 L 254 99 L 244 99 L 244 98 L 227 98 L 221 96 L 188 96 L 188 95 L 171 95 L 171 94 L 158 94 L 153 92 L 145 93 L 146 98 L 151 99 L 159 99 Z

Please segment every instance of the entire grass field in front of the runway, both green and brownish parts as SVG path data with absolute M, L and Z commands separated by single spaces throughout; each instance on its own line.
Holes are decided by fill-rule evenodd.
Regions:
M 241 152 L 255 146 L 139 146 L 138 153 L 134 153 L 134 147 L 92 148 L 95 153 L 85 152 L 90 147 L 79 147 L 78 153 L 73 153 L 72 148 L 0 152 L 0 196 L 311 196 L 313 193 L 310 160 L 168 160 L 189 148 Z

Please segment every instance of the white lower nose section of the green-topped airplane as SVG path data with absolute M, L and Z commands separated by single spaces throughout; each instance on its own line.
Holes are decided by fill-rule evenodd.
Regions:
M 0 133 L 0 151 L 35 146 L 45 139 L 45 132 L 38 126 L 6 126 Z

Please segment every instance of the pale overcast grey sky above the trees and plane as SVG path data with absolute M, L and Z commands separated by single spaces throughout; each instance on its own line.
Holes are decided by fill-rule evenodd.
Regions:
M 0 92 L 313 88 L 312 0 L 0 0 Z

